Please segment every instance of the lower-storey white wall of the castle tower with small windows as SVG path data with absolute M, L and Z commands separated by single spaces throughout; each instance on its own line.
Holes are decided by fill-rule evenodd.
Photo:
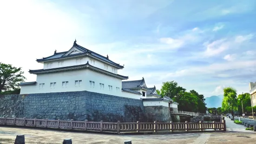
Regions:
M 75 80 L 82 80 L 81 85 L 76 86 Z M 94 86 L 90 85 L 90 80 L 94 81 Z M 68 81 L 68 85 L 62 86 L 63 81 Z M 36 82 L 37 85 L 21 86 L 20 94 L 89 91 L 125 98 L 145 98 L 142 95 L 122 92 L 121 79 L 89 69 L 38 74 Z M 56 86 L 51 88 L 50 83 L 52 82 L 56 82 Z M 41 83 L 45 84 L 43 88 L 39 88 L 39 84 Z M 100 88 L 99 83 L 104 84 L 104 88 Z M 112 91 L 109 90 L 108 85 L 112 85 Z M 119 91 L 117 91 L 116 87 L 119 87 Z

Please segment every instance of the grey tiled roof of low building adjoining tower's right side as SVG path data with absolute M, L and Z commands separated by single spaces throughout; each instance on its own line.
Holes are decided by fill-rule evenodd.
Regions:
M 148 90 L 144 78 L 141 80 L 122 81 L 123 89 L 138 89 L 145 88 Z

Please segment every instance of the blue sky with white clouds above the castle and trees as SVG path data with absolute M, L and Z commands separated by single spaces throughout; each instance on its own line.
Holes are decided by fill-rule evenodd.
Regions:
M 76 39 L 147 87 L 174 80 L 210 97 L 256 82 L 256 0 L 1 0 L 0 19 L 0 62 L 26 81 Z

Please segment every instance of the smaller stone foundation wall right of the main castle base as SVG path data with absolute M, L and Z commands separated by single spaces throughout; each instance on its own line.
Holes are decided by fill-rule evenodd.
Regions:
M 170 122 L 171 114 L 166 106 L 144 106 L 149 122 Z

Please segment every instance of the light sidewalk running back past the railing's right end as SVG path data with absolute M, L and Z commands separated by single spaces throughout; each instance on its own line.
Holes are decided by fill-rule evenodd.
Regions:
M 225 118 L 226 120 L 226 131 L 237 131 L 237 132 L 254 132 L 251 130 L 245 130 L 245 126 L 242 124 L 235 124 L 230 118 Z

